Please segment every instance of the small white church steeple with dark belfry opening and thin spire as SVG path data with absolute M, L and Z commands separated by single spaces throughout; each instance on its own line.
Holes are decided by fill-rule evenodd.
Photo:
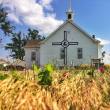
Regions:
M 67 10 L 66 14 L 67 14 L 67 20 L 73 21 L 73 10 L 72 10 L 71 0 L 68 0 L 68 10 Z

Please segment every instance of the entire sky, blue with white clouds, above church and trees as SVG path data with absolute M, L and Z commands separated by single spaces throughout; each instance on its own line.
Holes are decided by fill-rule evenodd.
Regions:
M 68 0 L 0 0 L 7 7 L 8 19 L 16 30 L 26 32 L 28 27 L 38 29 L 43 35 L 51 33 L 66 19 Z M 95 34 L 110 53 L 110 0 L 72 0 L 74 22 L 90 35 Z M 1 36 L 0 36 L 1 37 Z M 2 37 L 3 43 L 10 38 Z M 0 48 L 0 57 L 8 56 Z

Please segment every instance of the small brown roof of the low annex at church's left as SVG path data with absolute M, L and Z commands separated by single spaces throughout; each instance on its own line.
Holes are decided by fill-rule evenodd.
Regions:
M 40 47 L 41 41 L 40 40 L 29 40 L 27 41 L 26 45 L 24 48 L 35 48 L 35 47 Z

